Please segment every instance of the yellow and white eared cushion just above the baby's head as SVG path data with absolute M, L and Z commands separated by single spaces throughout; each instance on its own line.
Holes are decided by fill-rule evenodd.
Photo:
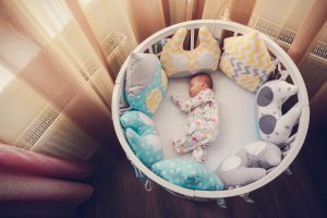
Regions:
M 220 48 L 207 27 L 198 31 L 199 45 L 193 50 L 184 50 L 183 43 L 187 31 L 180 28 L 162 49 L 160 61 L 169 77 L 210 73 L 218 68 Z

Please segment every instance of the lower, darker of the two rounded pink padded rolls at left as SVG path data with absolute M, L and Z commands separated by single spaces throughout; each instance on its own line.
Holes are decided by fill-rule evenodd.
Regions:
M 0 171 L 0 202 L 51 202 L 78 205 L 93 194 L 87 184 Z

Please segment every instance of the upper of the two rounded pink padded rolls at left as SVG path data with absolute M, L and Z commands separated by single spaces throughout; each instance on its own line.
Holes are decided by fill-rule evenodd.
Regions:
M 85 162 L 63 160 L 0 144 L 0 170 L 24 172 L 64 179 L 85 179 L 90 166 Z

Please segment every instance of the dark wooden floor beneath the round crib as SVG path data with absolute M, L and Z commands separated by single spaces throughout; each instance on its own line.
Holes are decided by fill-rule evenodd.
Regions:
M 302 65 L 303 69 L 308 68 Z M 327 72 L 308 68 L 303 77 L 310 96 Z M 323 81 L 324 82 L 324 81 Z M 299 156 L 291 165 L 292 175 L 281 174 L 251 193 L 255 204 L 240 197 L 227 198 L 227 209 L 216 202 L 190 202 L 171 195 L 158 185 L 146 192 L 135 179 L 130 162 L 100 152 L 95 158 L 97 172 L 90 183 L 95 194 L 78 208 L 82 218 L 170 218 L 170 217 L 294 217 L 327 218 L 327 126 L 311 129 Z

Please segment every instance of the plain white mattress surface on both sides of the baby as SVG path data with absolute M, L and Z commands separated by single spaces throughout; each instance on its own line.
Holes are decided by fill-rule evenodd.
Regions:
M 219 133 L 217 141 L 207 148 L 207 160 L 204 165 L 210 170 L 216 170 L 229 154 L 258 138 L 254 118 L 255 94 L 237 85 L 220 71 L 214 72 L 211 78 L 219 104 Z M 171 95 L 190 98 L 189 80 L 169 80 L 167 95 L 154 116 L 165 159 L 178 157 L 191 159 L 191 154 L 179 156 L 172 146 L 174 138 L 185 135 L 187 113 L 180 111 L 170 100 Z

